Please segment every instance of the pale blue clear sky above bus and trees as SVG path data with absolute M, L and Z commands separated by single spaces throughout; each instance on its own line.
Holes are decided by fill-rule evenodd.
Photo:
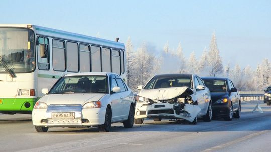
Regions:
M 29 23 L 200 57 L 213 31 L 223 64 L 271 59 L 271 0 L 1 0 L 0 23 Z

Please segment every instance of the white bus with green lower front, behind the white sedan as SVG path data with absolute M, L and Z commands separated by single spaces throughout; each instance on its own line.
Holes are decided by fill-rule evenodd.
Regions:
M 31 24 L 0 24 L 0 113 L 31 113 L 63 75 L 114 72 L 126 79 L 125 46 Z

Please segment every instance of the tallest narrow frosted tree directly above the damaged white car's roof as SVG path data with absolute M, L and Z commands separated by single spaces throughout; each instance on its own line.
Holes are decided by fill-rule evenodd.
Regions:
M 180 42 L 178 44 L 175 56 L 177 57 L 177 61 L 178 61 L 178 67 L 179 67 L 179 72 L 178 73 L 181 73 L 181 74 L 185 73 L 186 61 L 185 61 L 185 56 L 184 56 L 183 48 L 182 48 Z

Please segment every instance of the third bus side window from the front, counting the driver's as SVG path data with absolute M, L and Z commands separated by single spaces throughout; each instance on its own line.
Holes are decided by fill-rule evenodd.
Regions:
M 78 44 L 67 42 L 67 71 L 78 72 Z

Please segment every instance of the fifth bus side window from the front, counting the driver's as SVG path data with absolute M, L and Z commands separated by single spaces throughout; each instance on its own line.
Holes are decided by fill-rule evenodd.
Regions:
M 92 72 L 101 72 L 101 48 L 91 46 L 91 69 Z

